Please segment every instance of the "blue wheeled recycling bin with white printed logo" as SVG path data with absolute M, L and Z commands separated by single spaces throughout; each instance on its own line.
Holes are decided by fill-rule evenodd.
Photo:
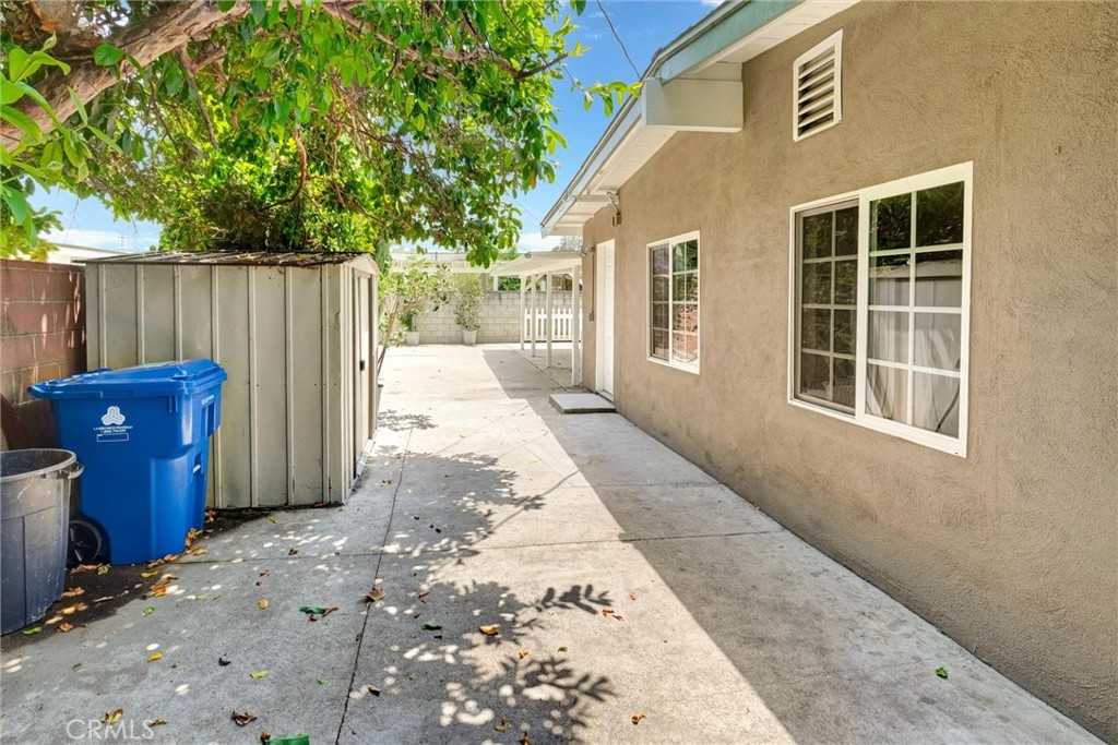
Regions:
M 37 383 L 58 446 L 85 466 L 84 518 L 104 533 L 113 564 L 181 553 L 206 522 L 209 438 L 221 419 L 225 370 L 182 360 L 94 370 Z

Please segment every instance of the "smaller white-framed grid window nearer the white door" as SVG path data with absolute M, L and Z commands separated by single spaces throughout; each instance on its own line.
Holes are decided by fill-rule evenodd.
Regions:
M 648 245 L 648 360 L 699 372 L 699 232 Z

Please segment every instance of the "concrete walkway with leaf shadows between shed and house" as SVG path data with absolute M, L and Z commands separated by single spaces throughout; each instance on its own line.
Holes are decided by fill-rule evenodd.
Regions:
M 622 417 L 556 412 L 569 372 L 537 364 L 392 350 L 350 503 L 227 526 L 160 567 L 165 596 L 89 591 L 68 633 L 6 637 L 3 742 L 115 708 L 165 719 L 157 743 L 1098 742 Z M 70 584 L 140 593 L 141 570 Z

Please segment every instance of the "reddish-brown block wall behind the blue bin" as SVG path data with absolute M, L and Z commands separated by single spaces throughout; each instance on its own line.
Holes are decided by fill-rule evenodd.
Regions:
M 16 407 L 31 447 L 54 447 L 50 405 L 27 386 L 85 372 L 85 269 L 0 260 L 0 393 Z

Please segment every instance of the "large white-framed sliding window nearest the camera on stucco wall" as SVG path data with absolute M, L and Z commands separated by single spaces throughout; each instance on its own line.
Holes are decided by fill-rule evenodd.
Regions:
M 788 400 L 966 455 L 973 165 L 792 209 Z

